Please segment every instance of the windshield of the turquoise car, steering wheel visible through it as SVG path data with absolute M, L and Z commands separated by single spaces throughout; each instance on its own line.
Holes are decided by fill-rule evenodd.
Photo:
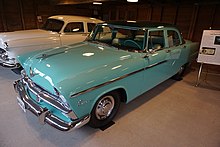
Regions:
M 140 28 L 122 27 L 97 25 L 88 36 L 87 41 L 107 44 L 123 50 L 143 51 L 145 48 L 145 31 Z

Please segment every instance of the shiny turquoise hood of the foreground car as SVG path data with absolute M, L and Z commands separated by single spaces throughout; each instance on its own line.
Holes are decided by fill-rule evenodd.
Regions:
M 24 61 L 22 56 L 18 60 Z M 89 42 L 46 50 L 21 64 L 35 83 L 70 95 L 140 68 L 130 52 Z

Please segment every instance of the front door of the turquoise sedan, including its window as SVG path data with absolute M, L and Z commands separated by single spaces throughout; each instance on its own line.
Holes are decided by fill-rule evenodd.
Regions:
M 169 64 L 165 49 L 163 30 L 149 31 L 148 33 L 148 55 L 145 56 L 144 91 L 151 89 L 169 77 Z

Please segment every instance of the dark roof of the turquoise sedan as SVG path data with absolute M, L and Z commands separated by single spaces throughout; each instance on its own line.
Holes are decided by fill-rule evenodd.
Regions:
M 108 21 L 109 25 L 127 26 L 127 27 L 138 27 L 138 28 L 158 28 L 158 27 L 172 27 L 176 28 L 173 24 L 151 22 L 151 21 Z

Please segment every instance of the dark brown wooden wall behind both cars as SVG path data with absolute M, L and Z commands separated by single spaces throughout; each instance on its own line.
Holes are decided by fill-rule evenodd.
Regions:
M 176 24 L 184 38 L 200 41 L 204 29 L 220 29 L 220 4 L 54 5 L 49 0 L 0 0 L 0 32 L 41 28 L 56 14 L 103 20 L 148 20 Z M 95 13 L 94 13 L 95 12 Z M 97 14 L 98 13 L 98 14 Z M 42 18 L 42 22 L 37 19 Z

